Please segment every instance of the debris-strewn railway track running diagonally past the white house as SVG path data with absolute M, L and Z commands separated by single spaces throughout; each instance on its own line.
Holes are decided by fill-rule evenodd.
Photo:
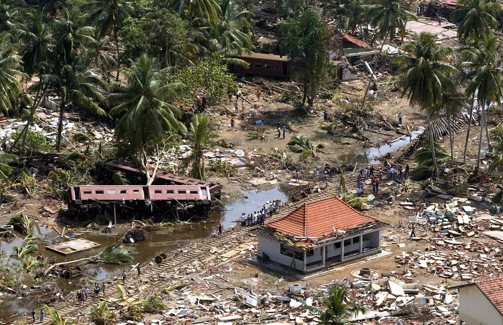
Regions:
M 325 190 L 321 192 L 315 193 L 307 198 L 299 200 L 298 202 L 292 203 L 289 206 L 284 207 L 281 212 L 273 214 L 272 217 L 267 218 L 266 222 L 272 222 L 278 220 L 284 217 L 285 215 L 289 214 L 290 212 L 293 212 L 295 209 L 297 209 L 299 206 L 305 203 L 329 197 L 334 188 L 335 188 L 334 185 L 328 186 Z M 144 266 L 141 270 L 140 278 L 128 276 L 124 287 L 125 288 L 128 286 L 139 287 L 141 279 L 156 277 L 159 274 L 174 275 L 175 273 L 177 273 L 178 267 L 182 267 L 189 262 L 201 260 L 202 258 L 208 257 L 208 251 L 211 248 L 215 247 L 230 248 L 230 246 L 233 245 L 233 243 L 236 243 L 238 239 L 240 239 L 243 235 L 249 233 L 256 227 L 257 226 L 252 227 L 236 226 L 232 228 L 230 231 L 224 232 L 222 236 L 205 241 L 204 243 L 202 243 L 202 245 L 199 245 L 195 248 L 191 248 L 179 255 L 167 258 L 160 264 Z M 103 280 L 103 282 L 109 282 L 109 281 L 110 283 L 108 283 L 108 287 L 115 287 L 117 284 L 122 285 L 122 278 L 116 281 L 111 280 L 110 278 Z M 155 289 L 155 286 L 158 286 L 158 283 L 149 282 L 146 286 L 147 287 L 143 289 L 143 292 L 150 292 L 153 291 L 153 289 Z M 92 288 L 90 288 L 90 290 L 92 291 Z M 100 299 L 103 300 L 108 298 L 115 298 L 116 294 L 117 293 L 115 291 L 108 292 L 105 295 L 101 296 Z M 66 300 L 53 303 L 51 305 L 51 308 L 55 309 L 58 312 L 59 316 L 61 316 L 62 318 L 66 318 L 69 316 L 79 315 L 81 311 L 86 310 L 88 308 L 96 307 L 97 301 L 98 300 L 96 299 L 88 298 L 86 302 L 83 302 L 81 305 L 78 305 L 76 297 L 67 296 Z M 19 317 L 19 319 L 17 319 L 17 321 L 26 322 L 28 319 L 30 319 L 30 317 L 21 316 Z M 52 322 L 51 316 L 48 313 L 46 313 L 43 324 L 50 324 L 51 322 Z

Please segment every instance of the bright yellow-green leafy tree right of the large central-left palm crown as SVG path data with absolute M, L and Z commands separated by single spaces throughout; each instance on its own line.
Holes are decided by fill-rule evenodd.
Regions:
M 168 77 L 170 83 L 183 83 L 177 102 L 183 107 L 192 107 L 195 97 L 204 90 L 208 104 L 215 103 L 234 82 L 223 57 L 212 54 L 200 59 L 195 65 L 188 65 Z

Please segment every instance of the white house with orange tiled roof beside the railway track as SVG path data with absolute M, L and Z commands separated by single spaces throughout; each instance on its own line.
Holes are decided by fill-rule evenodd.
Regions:
M 387 226 L 331 196 L 305 203 L 254 232 L 259 256 L 265 253 L 270 261 L 305 274 L 380 253 L 381 230 Z

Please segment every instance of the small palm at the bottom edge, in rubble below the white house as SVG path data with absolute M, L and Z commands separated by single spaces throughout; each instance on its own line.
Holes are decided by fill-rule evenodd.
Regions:
M 321 301 L 325 310 L 309 307 L 318 314 L 320 325 L 344 325 L 351 317 L 367 311 L 367 308 L 350 299 L 348 288 L 345 287 L 331 287 L 327 295 L 321 295 Z

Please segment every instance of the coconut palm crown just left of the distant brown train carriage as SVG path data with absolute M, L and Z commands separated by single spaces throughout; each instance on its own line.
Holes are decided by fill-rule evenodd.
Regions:
M 250 28 L 249 20 L 254 14 L 243 10 L 236 0 L 220 0 L 218 5 L 221 12 L 217 20 L 200 20 L 201 27 L 198 30 L 204 36 L 202 45 L 209 53 L 223 55 L 228 64 L 247 65 L 232 56 L 251 51 L 251 39 L 246 30 Z

